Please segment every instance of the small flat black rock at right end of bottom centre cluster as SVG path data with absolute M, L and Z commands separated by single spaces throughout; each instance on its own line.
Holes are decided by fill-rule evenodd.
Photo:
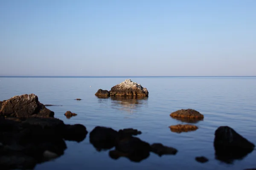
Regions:
M 162 156 L 162 155 L 175 155 L 178 150 L 173 147 L 163 146 L 163 144 L 160 144 L 160 143 L 154 143 L 151 145 L 151 151 L 156 153 L 159 156 Z

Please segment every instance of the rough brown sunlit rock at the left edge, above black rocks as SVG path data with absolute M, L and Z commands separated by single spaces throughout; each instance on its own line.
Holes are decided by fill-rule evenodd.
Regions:
M 0 102 L 0 116 L 12 117 L 53 117 L 54 112 L 38 101 L 35 94 L 23 94 Z

